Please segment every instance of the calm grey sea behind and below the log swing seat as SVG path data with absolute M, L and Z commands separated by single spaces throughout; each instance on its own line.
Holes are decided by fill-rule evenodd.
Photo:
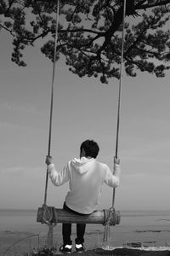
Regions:
M 61 224 L 54 226 L 54 246 L 62 244 Z M 87 224 L 85 247 L 101 247 L 105 227 Z M 47 244 L 48 225 L 37 223 L 37 210 L 0 209 L 0 255 L 20 256 Z M 72 224 L 72 241 L 76 224 Z M 140 242 L 144 247 L 170 247 L 170 211 L 121 211 L 121 222 L 110 227 L 110 245 Z

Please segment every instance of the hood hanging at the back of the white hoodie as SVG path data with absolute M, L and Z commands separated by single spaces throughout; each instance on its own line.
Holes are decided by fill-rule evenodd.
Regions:
M 71 166 L 80 174 L 86 173 L 89 171 L 90 166 L 93 165 L 94 158 L 82 157 L 81 159 L 73 158 L 71 160 Z

